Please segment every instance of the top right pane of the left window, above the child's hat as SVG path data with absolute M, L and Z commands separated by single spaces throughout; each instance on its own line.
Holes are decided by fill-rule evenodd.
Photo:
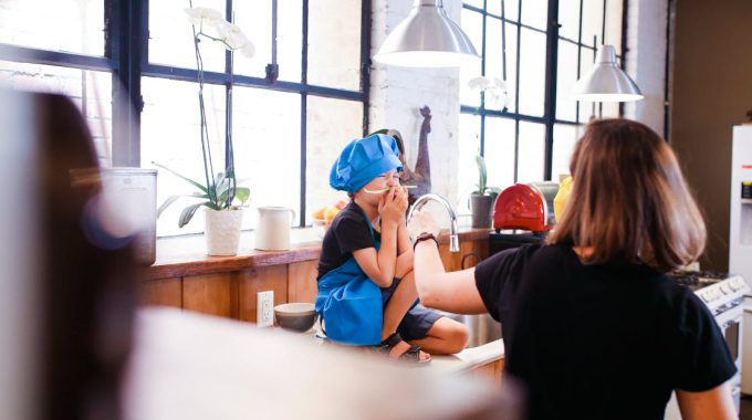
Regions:
M 336 10 L 336 13 L 332 13 Z M 361 88 L 361 2 L 311 0 L 309 83 Z

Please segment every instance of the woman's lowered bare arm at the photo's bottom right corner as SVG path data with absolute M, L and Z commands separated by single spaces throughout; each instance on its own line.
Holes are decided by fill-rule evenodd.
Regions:
M 690 392 L 677 389 L 677 400 L 683 420 L 737 419 L 729 382 L 707 391 Z

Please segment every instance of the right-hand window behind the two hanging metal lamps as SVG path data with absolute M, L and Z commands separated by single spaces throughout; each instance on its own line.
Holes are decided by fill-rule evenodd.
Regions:
M 476 182 L 477 154 L 492 162 L 488 181 L 500 188 L 568 174 L 582 125 L 593 115 L 619 116 L 618 105 L 577 103 L 570 92 L 592 67 L 596 46 L 622 50 L 623 9 L 623 0 L 463 2 L 462 29 L 482 60 L 460 70 L 461 186 Z M 555 10 L 561 27 L 554 38 L 546 17 Z M 479 76 L 492 87 L 473 88 Z

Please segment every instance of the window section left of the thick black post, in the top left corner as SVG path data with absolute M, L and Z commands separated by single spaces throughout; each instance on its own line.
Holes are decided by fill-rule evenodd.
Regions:
M 104 56 L 103 31 L 102 0 L 0 3 L 0 84 L 73 99 L 88 123 L 100 161 L 109 165 L 113 62 Z

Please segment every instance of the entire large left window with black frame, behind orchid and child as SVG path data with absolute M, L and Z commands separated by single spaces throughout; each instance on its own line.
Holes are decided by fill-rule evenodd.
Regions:
M 342 198 L 328 188 L 330 165 L 367 127 L 369 82 L 362 70 L 368 63 L 370 1 L 192 0 L 192 6 L 231 17 L 255 46 L 252 59 L 234 54 L 230 66 L 221 46 L 201 45 L 212 153 L 223 154 L 224 134 L 231 133 L 237 176 L 251 189 L 244 228 L 254 228 L 257 206 L 290 207 L 296 212 L 293 224 L 310 224 L 312 210 Z M 73 97 L 104 166 L 159 162 L 200 181 L 188 7 L 189 0 L 3 1 L 0 77 L 14 87 Z M 59 35 L 63 31 L 66 36 Z M 273 57 L 276 81 L 267 70 Z M 136 109 L 124 105 L 124 97 Z M 160 170 L 157 192 L 163 202 L 192 189 Z M 200 212 L 178 228 L 182 207 L 177 202 L 161 214 L 158 235 L 203 230 Z

